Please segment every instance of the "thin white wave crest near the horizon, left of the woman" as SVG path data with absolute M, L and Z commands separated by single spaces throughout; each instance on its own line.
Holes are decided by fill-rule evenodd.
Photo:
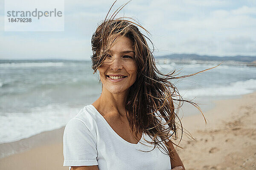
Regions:
M 52 67 L 63 66 L 63 62 L 20 62 L 0 63 L 0 67 Z

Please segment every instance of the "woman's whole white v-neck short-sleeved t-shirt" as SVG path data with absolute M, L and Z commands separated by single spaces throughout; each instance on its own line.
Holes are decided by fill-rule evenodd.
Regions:
M 86 105 L 65 127 L 63 166 L 69 169 L 98 165 L 99 170 L 171 170 L 166 151 L 154 148 L 154 144 L 145 142 L 143 137 L 152 141 L 146 133 L 140 139 L 143 144 L 125 141 L 93 105 Z

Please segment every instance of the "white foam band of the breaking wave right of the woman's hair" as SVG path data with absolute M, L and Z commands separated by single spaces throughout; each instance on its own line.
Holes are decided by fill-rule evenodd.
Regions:
M 230 85 L 224 86 L 180 90 L 179 92 L 184 98 L 194 98 L 196 96 L 236 96 L 249 94 L 254 90 L 256 90 L 256 79 L 232 82 Z

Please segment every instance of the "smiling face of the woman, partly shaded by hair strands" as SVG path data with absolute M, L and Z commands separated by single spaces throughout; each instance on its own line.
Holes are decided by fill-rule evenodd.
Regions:
M 99 67 L 100 79 L 104 89 L 112 94 L 120 94 L 127 91 L 137 79 L 137 64 L 131 40 L 119 35 L 108 54 Z

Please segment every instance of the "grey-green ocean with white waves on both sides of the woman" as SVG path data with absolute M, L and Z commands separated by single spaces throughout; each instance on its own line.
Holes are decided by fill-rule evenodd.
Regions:
M 178 77 L 219 63 L 157 60 L 157 68 L 163 73 L 181 69 Z M 222 63 L 172 83 L 183 99 L 200 103 L 205 112 L 214 107 L 212 100 L 237 98 L 256 91 L 256 67 Z M 81 108 L 93 103 L 100 92 L 99 74 L 93 74 L 91 61 L 0 62 L 0 144 L 65 126 Z M 196 113 L 200 112 L 195 107 L 184 105 L 181 116 Z

